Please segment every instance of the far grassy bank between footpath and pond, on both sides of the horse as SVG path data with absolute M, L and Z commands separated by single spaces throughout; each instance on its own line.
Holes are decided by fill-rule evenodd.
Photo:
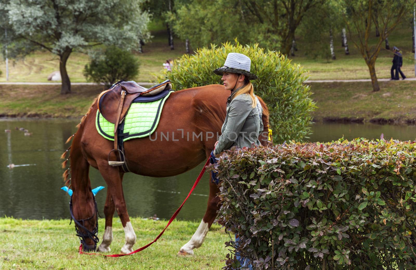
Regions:
M 380 82 L 372 92 L 371 82 L 310 83 L 318 109 L 315 121 L 360 119 L 370 121 L 416 119 L 415 82 Z M 59 94 L 59 85 L 0 85 L 0 116 L 73 117 L 84 115 L 103 86 L 72 86 L 72 94 Z

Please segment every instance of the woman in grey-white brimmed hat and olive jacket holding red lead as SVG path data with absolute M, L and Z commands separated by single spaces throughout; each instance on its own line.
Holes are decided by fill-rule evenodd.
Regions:
M 227 114 L 221 128 L 222 134 L 211 152 L 211 161 L 215 162 L 216 155 L 233 146 L 250 148 L 260 145 L 258 137 L 263 130 L 263 110 L 250 82 L 252 79 L 258 79 L 250 72 L 250 65 L 249 57 L 230 52 L 224 66 L 214 70 L 215 74 L 222 76 L 225 89 L 230 90 L 231 94 L 227 99 Z M 218 181 L 217 179 L 214 174 L 213 181 Z M 236 245 L 239 245 L 239 240 L 236 235 Z M 242 266 L 252 269 L 248 258 L 243 258 L 239 253 L 235 256 Z

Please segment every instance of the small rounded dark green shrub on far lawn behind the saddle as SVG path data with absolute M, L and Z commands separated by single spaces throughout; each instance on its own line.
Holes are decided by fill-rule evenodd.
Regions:
M 116 46 L 107 47 L 104 53 L 97 52 L 85 65 L 84 76 L 88 81 L 111 86 L 119 80 L 128 81 L 139 74 L 139 60 L 131 52 Z

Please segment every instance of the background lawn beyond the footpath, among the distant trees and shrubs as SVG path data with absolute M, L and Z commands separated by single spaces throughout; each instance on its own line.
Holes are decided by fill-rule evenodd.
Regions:
M 136 53 L 136 57 L 141 62 L 139 76 L 134 78 L 137 82 L 148 82 L 154 79 L 163 69 L 162 64 L 166 59 L 176 59 L 185 53 L 185 43 L 175 38 L 175 50 L 168 46 L 168 36 L 166 27 L 161 22 L 152 22 L 149 26 L 154 36 L 151 42 L 143 47 L 144 53 Z M 390 47 L 397 46 L 403 54 L 402 71 L 407 77 L 414 77 L 414 55 L 412 48 L 412 32 L 407 23 L 399 25 L 396 30 L 389 36 Z M 373 31 L 374 32 L 374 31 Z M 370 38 L 370 43 L 374 44 L 377 38 L 375 34 Z M 322 41 L 328 43 L 329 40 Z M 294 63 L 301 64 L 305 70 L 310 71 L 310 79 L 369 79 L 369 70 L 358 49 L 354 47 L 352 40 L 348 41 L 350 55 L 344 54 L 344 47 L 341 47 L 340 33 L 334 33 L 334 46 L 337 59 L 312 59 L 306 55 L 308 48 L 314 46 L 309 44 L 303 37 L 297 37 L 297 47 L 295 57 L 290 57 Z M 390 78 L 391 60 L 393 54 L 391 51 L 381 49 L 379 58 L 376 61 L 376 72 L 379 78 Z M 86 79 L 82 74 L 85 64 L 88 62 L 88 56 L 79 52 L 74 52 L 68 59 L 67 70 L 71 82 L 85 82 Z M 0 82 L 5 82 L 5 62 L 0 60 L 0 69 L 3 74 L 0 76 Z M 47 51 L 38 51 L 23 60 L 9 60 L 10 82 L 47 82 L 47 76 L 59 70 L 59 59 L 56 55 Z

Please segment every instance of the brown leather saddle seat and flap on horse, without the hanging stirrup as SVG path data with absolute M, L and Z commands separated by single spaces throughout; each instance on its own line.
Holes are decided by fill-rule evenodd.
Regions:
M 116 82 L 110 89 L 102 92 L 97 100 L 98 110 L 102 116 L 107 119 L 107 121 L 116 124 L 117 121 L 117 111 L 120 106 L 122 99 L 122 91 L 125 91 L 124 100 L 121 108 L 121 114 L 119 116 L 119 124 L 123 121 L 124 116 L 126 116 L 127 111 L 130 108 L 131 103 L 137 97 L 141 97 L 142 102 L 145 102 L 146 99 L 152 99 L 151 97 L 157 96 L 163 90 L 170 90 L 172 88 L 171 81 L 166 80 L 160 84 L 156 84 L 150 88 L 145 88 L 136 84 L 136 82 Z M 150 101 L 150 100 L 149 100 Z

